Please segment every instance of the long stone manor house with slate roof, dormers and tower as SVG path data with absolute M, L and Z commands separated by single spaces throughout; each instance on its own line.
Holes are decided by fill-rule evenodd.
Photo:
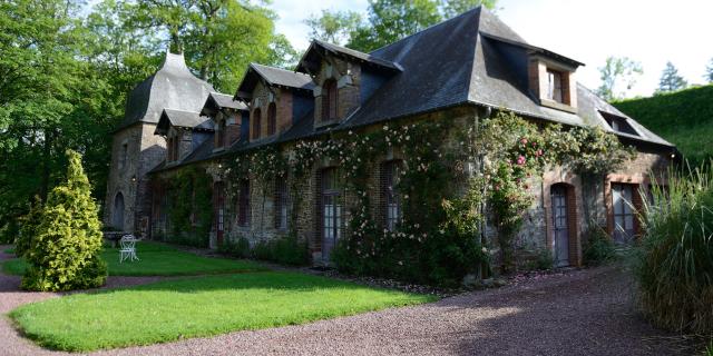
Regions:
M 128 97 L 115 131 L 105 222 L 149 238 L 166 234 L 173 202 L 165 182 L 197 168 L 213 180 L 212 247 L 236 236 L 256 241 L 292 229 L 309 241 L 315 264 L 326 263 L 346 220 L 349 197 L 335 178 L 338 162 L 315 157 L 300 186 L 304 204 L 297 218 L 289 219 L 285 179 L 225 181 L 219 170 L 226 159 L 265 146 L 290 151 L 330 132 L 360 135 L 400 120 L 485 118 L 505 109 L 536 122 L 598 126 L 636 148 L 633 161 L 594 188 L 561 167 L 533 185 L 537 199 L 521 244 L 550 249 L 558 266 L 576 266 L 593 217 L 617 240 L 636 235 L 628 201 L 641 205 L 649 175 L 664 171 L 675 157 L 673 145 L 577 83 L 580 66 L 527 43 L 484 8 L 371 53 L 314 40 L 294 70 L 251 65 L 232 95 L 196 78 L 182 55 L 166 53 L 163 66 Z M 398 148 L 390 149 L 372 172 L 377 184 L 370 195 L 380 201 L 375 218 L 389 229 L 401 214 L 392 189 L 400 164 Z

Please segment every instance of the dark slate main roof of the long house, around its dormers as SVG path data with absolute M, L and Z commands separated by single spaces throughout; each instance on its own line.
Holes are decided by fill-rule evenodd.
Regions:
M 525 39 L 482 7 L 434 24 L 371 53 L 362 53 L 322 41 L 314 41 L 313 46 L 369 60 L 372 63 L 393 63 L 393 67 L 399 68 L 399 71 L 393 71 L 393 75 L 390 75 L 390 78 L 342 123 L 328 130 L 350 129 L 455 106 L 479 105 L 494 109 L 508 109 L 530 118 L 568 126 L 599 126 L 614 132 L 600 113 L 604 111 L 624 118 L 638 134 L 634 136 L 614 132 L 619 137 L 673 148 L 672 144 L 579 83 L 577 85 L 577 113 L 540 106 L 537 98 L 529 91 L 527 82 L 528 56 L 537 53 L 573 67 L 582 63 L 528 44 Z M 293 80 L 295 75 L 260 65 L 252 65 L 251 68 L 256 68 L 261 76 L 273 83 Z M 297 70 L 306 70 L 305 65 L 301 62 Z M 283 79 L 283 76 L 287 78 Z M 309 77 L 303 78 L 305 81 L 300 82 L 302 86 L 313 87 L 311 81 L 306 83 Z M 313 112 L 309 112 L 277 138 L 257 142 L 238 141 L 226 152 L 316 136 L 324 131 L 324 129 L 315 131 Z M 198 158 L 199 156 L 196 155 L 194 161 L 216 157 L 209 152 L 203 158 Z

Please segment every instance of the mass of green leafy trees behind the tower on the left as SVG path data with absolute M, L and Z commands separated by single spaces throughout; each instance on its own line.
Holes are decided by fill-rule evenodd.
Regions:
M 248 0 L 0 1 L 0 240 L 35 195 L 42 200 L 80 152 L 101 201 L 111 130 L 126 97 L 167 48 L 232 92 L 247 65 L 291 66 L 276 16 Z

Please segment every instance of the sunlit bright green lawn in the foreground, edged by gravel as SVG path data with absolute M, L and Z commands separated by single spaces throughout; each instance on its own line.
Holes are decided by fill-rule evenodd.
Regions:
M 88 352 L 304 324 L 436 297 L 296 273 L 168 280 L 21 306 L 10 313 L 43 347 Z

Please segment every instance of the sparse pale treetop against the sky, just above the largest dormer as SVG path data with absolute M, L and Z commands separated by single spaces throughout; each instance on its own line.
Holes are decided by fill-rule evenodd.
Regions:
M 322 10 L 321 17 L 312 14 L 304 23 L 310 27 L 312 39 L 343 46 L 362 21 L 361 14 L 354 11 Z

